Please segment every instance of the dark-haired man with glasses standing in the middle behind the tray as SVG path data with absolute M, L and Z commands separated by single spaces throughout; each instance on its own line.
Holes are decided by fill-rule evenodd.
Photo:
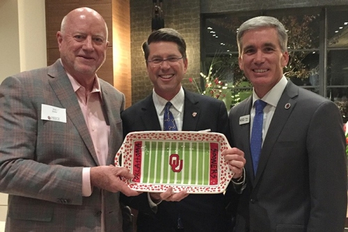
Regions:
M 178 130 L 211 130 L 230 138 L 228 114 L 221 100 L 182 88 L 188 60 L 184 38 L 173 29 L 159 29 L 150 34 L 143 44 L 148 75 L 154 86 L 152 94 L 122 112 L 124 134 L 134 131 L 163 130 L 164 107 L 170 108 Z M 235 173 L 235 187 L 244 183 L 244 153 L 237 148 L 225 151 L 230 169 Z M 148 199 L 152 199 L 151 210 Z M 228 217 L 223 194 L 190 194 L 182 191 L 172 194 L 171 188 L 163 193 L 141 194 L 124 199 L 139 210 L 138 231 L 168 232 L 223 232 L 228 230 Z M 175 202 L 177 201 L 177 202 Z M 161 202 L 161 203 L 159 203 Z M 155 203 L 158 203 L 156 205 Z

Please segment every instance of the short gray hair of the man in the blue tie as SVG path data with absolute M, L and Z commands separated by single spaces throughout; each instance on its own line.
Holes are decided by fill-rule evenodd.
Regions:
M 287 32 L 284 25 L 275 17 L 259 16 L 253 17 L 239 26 L 239 30 L 237 32 L 239 56 L 242 54 L 242 36 L 244 35 L 244 33 L 248 30 L 259 29 L 260 27 L 272 27 L 276 29 L 278 33 L 280 49 L 282 50 L 282 52 L 287 52 Z

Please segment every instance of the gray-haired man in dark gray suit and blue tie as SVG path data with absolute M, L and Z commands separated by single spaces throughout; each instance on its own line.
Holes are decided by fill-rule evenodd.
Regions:
M 253 95 L 229 115 L 232 145 L 246 157 L 235 231 L 343 231 L 347 170 L 338 107 L 283 75 L 287 32 L 274 17 L 244 22 L 237 42 L 239 68 L 253 84 Z M 266 105 L 258 157 L 250 142 L 257 100 Z M 248 123 L 240 120 L 246 118 Z

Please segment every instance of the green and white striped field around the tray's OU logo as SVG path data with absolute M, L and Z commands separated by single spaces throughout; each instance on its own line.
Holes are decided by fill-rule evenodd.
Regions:
M 172 154 L 182 160 L 182 171 L 169 164 Z M 202 141 L 143 141 L 141 183 L 209 185 L 209 143 Z

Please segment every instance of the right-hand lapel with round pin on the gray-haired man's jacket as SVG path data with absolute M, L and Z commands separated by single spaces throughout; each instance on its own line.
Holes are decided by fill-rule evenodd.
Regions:
M 260 176 L 262 176 L 262 172 L 267 165 L 271 150 L 273 150 L 274 144 L 276 144 L 275 141 L 277 141 L 280 132 L 283 130 L 287 119 L 296 105 L 296 101 L 292 98 L 298 95 L 298 93 L 298 87 L 292 84 L 292 82 L 288 81 L 287 86 L 280 97 L 276 111 L 274 111 L 274 116 L 269 125 L 266 137 L 264 138 L 264 143 L 260 154 L 260 161 L 258 164 L 258 171 L 256 172 L 255 176 L 254 187 L 258 183 L 258 180 L 260 180 Z

